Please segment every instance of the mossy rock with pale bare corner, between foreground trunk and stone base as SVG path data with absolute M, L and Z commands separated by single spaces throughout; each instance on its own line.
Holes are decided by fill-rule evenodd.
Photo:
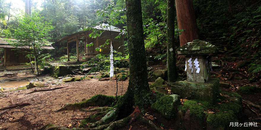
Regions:
M 178 95 L 165 95 L 152 104 L 152 108 L 160 112 L 165 118 L 175 115 L 175 109 L 179 105 Z

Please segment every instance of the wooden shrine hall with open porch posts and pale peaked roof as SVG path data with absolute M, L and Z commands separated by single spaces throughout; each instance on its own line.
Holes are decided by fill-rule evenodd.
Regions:
M 76 32 L 70 35 L 66 35 L 65 37 L 61 38 L 57 42 L 60 43 L 63 40 L 67 40 L 67 55 L 68 55 L 68 61 L 70 61 L 70 56 L 69 56 L 69 44 L 75 43 L 76 42 L 76 48 L 77 48 L 77 61 L 79 61 L 79 41 L 84 41 L 84 46 L 85 46 L 85 58 L 93 58 L 95 57 L 98 53 L 104 53 L 104 54 L 109 54 L 110 53 L 110 45 L 104 46 L 102 49 L 103 51 L 96 51 L 95 49 L 99 47 L 100 45 L 103 45 L 107 39 L 110 39 L 110 31 L 107 30 L 106 28 L 103 28 L 104 26 L 109 25 L 107 23 L 103 23 L 101 25 L 98 25 L 96 27 L 93 27 L 97 30 L 104 30 L 102 35 L 97 38 L 90 38 L 89 34 L 92 33 L 91 30 L 87 31 L 80 31 Z M 122 54 L 124 53 L 124 37 L 115 39 L 117 35 L 120 33 L 125 33 L 125 31 L 120 31 L 117 27 L 114 27 L 111 25 L 111 33 L 112 33 L 112 42 L 113 42 L 113 47 L 114 50 L 121 52 Z M 87 44 L 93 43 L 92 46 L 86 47 Z

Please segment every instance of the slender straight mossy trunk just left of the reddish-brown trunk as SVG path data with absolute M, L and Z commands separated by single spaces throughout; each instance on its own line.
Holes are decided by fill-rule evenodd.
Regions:
M 175 46 L 175 0 L 167 0 L 167 66 L 168 82 L 175 82 L 178 77 L 176 69 Z

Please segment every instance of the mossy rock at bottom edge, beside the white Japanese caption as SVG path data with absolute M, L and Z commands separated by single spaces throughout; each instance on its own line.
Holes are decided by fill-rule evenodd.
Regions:
M 233 111 L 219 111 L 217 113 L 207 114 L 207 128 L 222 130 L 229 126 L 230 122 L 238 122 Z

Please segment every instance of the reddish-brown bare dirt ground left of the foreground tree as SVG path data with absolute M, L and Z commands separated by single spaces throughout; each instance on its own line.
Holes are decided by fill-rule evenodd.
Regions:
M 0 130 L 30 130 L 39 128 L 47 123 L 60 126 L 78 124 L 81 120 L 71 120 L 71 118 L 82 118 L 90 113 L 82 111 L 53 111 L 63 107 L 66 103 L 77 103 L 97 94 L 115 95 L 116 92 L 115 80 L 98 81 L 98 79 L 82 80 L 41 89 L 54 87 L 64 88 L 35 92 L 28 95 L 26 93 L 31 92 L 35 88 L 5 93 L 5 96 L 0 97 L 0 108 L 11 105 L 11 99 L 14 104 L 28 102 L 31 105 L 22 108 L 13 108 L 1 115 Z M 128 80 L 123 82 L 123 94 L 126 92 L 127 87 Z M 122 85 L 120 82 L 118 95 L 122 92 L 121 88 Z

